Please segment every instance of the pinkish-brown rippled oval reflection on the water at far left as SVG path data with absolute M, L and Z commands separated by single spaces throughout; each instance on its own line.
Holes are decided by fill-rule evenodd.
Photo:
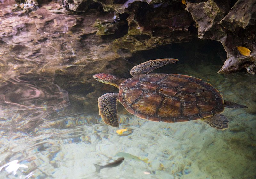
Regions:
M 22 109 L 53 110 L 68 105 L 68 92 L 39 75 L 19 75 L 0 84 L 0 103 Z

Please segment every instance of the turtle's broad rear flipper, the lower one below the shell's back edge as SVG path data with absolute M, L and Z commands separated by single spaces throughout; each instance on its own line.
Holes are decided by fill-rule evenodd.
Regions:
M 224 130 L 228 128 L 228 119 L 223 114 L 215 114 L 214 116 L 203 118 L 204 122 L 209 124 L 211 127 Z

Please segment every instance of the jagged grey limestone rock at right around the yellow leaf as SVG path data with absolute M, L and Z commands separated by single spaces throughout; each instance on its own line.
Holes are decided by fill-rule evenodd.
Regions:
M 226 2 L 228 4 L 230 2 Z M 220 41 L 227 52 L 227 59 L 218 73 L 247 70 L 255 74 L 256 26 L 255 1 L 239 0 L 227 16 L 227 6 L 218 0 L 187 2 L 186 10 L 191 13 L 198 27 L 198 37 Z M 239 53 L 237 46 L 251 50 L 249 56 Z

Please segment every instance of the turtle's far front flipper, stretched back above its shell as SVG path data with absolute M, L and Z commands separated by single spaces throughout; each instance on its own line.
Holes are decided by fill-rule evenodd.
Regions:
M 149 61 L 146 61 L 144 63 L 134 66 L 131 69 L 130 74 L 133 77 L 139 76 L 141 74 L 147 74 L 147 73 L 155 70 L 156 68 L 160 68 L 160 67 L 170 64 L 170 63 L 175 63 L 176 61 L 179 61 L 179 60 L 173 59 L 173 58 L 149 60 Z

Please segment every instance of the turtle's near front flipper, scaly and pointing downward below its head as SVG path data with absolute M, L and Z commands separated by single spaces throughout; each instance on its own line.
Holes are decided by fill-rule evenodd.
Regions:
M 98 98 L 99 114 L 102 117 L 102 120 L 113 127 L 119 127 L 117 98 L 117 93 L 106 93 Z

